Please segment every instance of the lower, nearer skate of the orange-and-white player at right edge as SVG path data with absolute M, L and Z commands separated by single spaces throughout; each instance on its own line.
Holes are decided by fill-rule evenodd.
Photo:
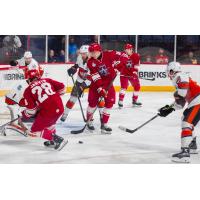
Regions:
M 178 163 L 190 163 L 190 149 L 181 148 L 180 153 L 176 153 L 172 155 L 172 161 L 178 162 Z

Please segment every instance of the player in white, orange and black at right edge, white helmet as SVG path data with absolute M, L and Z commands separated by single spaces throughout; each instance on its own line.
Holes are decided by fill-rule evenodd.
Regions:
M 167 74 L 176 88 L 175 102 L 171 106 L 162 107 L 159 110 L 159 115 L 166 117 L 176 109 L 182 109 L 186 102 L 188 103 L 182 117 L 181 152 L 173 154 L 172 161 L 190 162 L 190 154 L 197 153 L 196 137 L 193 135 L 193 130 L 200 120 L 200 86 L 186 73 L 181 72 L 181 66 L 178 62 L 168 64 Z

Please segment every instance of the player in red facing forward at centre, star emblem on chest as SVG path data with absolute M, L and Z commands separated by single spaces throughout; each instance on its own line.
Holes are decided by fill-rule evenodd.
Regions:
M 91 58 L 87 62 L 90 70 L 92 82 L 89 88 L 87 120 L 92 119 L 93 113 L 98 106 L 99 98 L 103 97 L 105 106 L 101 114 L 102 133 L 111 133 L 108 127 L 110 110 L 115 103 L 115 89 L 112 80 L 116 77 L 116 61 L 119 60 L 121 53 L 117 51 L 102 51 L 101 46 L 93 43 L 89 46 Z M 92 122 L 88 123 L 88 128 L 94 130 Z

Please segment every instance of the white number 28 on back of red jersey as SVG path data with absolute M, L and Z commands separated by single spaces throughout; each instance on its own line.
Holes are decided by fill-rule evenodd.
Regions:
M 45 92 L 45 94 L 42 94 L 42 91 Z M 48 96 L 51 96 L 55 94 L 55 92 L 52 90 L 50 83 L 42 83 L 40 86 L 36 86 L 32 89 L 32 93 L 38 95 L 38 101 L 40 103 L 44 102 Z

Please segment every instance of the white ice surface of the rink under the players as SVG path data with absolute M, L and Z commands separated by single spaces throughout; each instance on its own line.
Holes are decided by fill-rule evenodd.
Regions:
M 143 106 L 132 107 L 131 92 L 126 94 L 124 108 L 117 104 L 111 112 L 112 135 L 101 135 L 99 113 L 95 113 L 93 133 L 85 131 L 78 135 L 71 130 L 80 129 L 84 123 L 77 102 L 65 123 L 58 121 L 57 134 L 68 140 L 62 151 L 47 149 L 41 138 L 26 138 L 19 133 L 7 130 L 7 136 L 0 136 L 0 163 L 22 164 L 171 164 L 171 155 L 180 150 L 180 124 L 183 110 L 173 112 L 166 118 L 158 117 L 137 132 L 130 134 L 121 131 L 123 125 L 134 129 L 156 114 L 158 108 L 172 103 L 171 92 L 143 92 L 140 101 Z M 118 97 L 118 94 L 117 94 Z M 66 103 L 69 94 L 64 95 Z M 118 99 L 118 98 L 117 98 Z M 1 122 L 9 121 L 8 111 L 1 97 Z M 81 99 L 84 110 L 87 107 L 87 94 Z M 3 119 L 4 118 L 4 119 Z M 196 127 L 198 135 L 199 126 Z M 82 141 L 83 143 L 79 143 Z M 197 137 L 197 142 L 199 140 Z M 200 163 L 199 155 L 191 155 L 191 163 Z

